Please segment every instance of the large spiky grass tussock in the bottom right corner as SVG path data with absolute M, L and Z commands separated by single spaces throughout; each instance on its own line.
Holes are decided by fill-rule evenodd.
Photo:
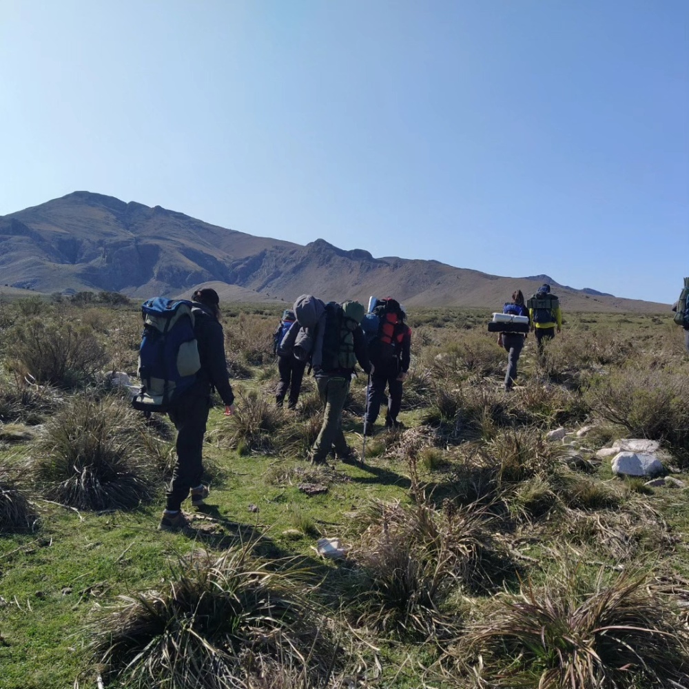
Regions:
M 689 668 L 686 630 L 623 573 L 606 584 L 580 568 L 540 588 L 502 593 L 469 625 L 460 655 L 491 686 L 542 689 L 667 687 Z

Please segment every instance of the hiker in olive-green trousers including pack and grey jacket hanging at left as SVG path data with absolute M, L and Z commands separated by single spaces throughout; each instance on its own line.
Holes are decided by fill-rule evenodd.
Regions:
M 302 294 L 294 302 L 299 327 L 291 327 L 280 343 L 282 351 L 292 351 L 307 362 L 316 377 L 318 395 L 324 407 L 320 433 L 309 455 L 313 464 L 325 464 L 331 450 L 342 460 L 351 460 L 354 451 L 342 433 L 342 409 L 358 363 L 371 372 L 366 338 L 361 329 L 364 306 L 356 301 L 325 304 Z

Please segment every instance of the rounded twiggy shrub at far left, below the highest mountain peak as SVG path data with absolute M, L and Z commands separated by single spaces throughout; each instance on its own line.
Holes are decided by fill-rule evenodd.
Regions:
M 76 387 L 107 361 L 92 330 L 70 322 L 30 320 L 14 327 L 12 338 L 12 357 L 39 383 Z

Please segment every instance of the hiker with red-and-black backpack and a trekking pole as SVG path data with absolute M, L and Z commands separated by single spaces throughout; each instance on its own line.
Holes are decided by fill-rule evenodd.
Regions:
M 369 336 L 369 359 L 373 364 L 373 372 L 369 378 L 366 399 L 366 414 L 364 415 L 364 435 L 373 435 L 373 424 L 376 423 L 380 405 L 387 402 L 385 427 L 400 429 L 402 423 L 398 421 L 398 414 L 402 408 L 402 387 L 404 379 L 409 374 L 411 360 L 411 328 L 404 323 L 406 314 L 400 303 L 388 297 L 375 300 L 373 316 L 367 322 L 376 324 L 375 330 Z M 385 387 L 388 388 L 388 397 Z

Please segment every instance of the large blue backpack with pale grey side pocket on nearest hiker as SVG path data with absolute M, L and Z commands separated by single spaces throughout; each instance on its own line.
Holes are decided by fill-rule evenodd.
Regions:
M 132 406 L 141 411 L 167 411 L 194 383 L 201 367 L 192 302 L 156 297 L 143 302 L 141 315 L 141 391 L 132 400 Z

